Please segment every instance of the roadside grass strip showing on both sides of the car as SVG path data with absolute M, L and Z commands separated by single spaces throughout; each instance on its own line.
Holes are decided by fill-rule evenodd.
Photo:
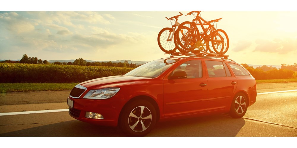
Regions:
M 297 78 L 256 80 L 256 83 L 289 83 L 297 82 Z M 0 83 L 0 93 L 26 91 L 65 91 L 71 90 L 78 83 Z

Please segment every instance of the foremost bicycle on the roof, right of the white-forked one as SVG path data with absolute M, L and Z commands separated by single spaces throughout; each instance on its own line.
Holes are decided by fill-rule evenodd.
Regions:
M 177 44 L 188 51 L 193 51 L 198 48 L 200 51 L 203 50 L 207 52 L 209 50 L 213 53 L 209 47 L 211 42 L 211 46 L 217 54 L 225 54 L 229 48 L 229 38 L 227 33 L 222 29 L 216 29 L 213 25 L 214 23 L 219 22 L 222 18 L 206 21 L 199 16 L 200 12 L 201 11 L 191 11 L 187 13 L 187 15 L 194 15 L 194 13 L 197 13 L 197 15 L 194 15 L 195 19 L 192 20 L 192 22 L 182 22 L 177 28 L 175 32 L 176 34 L 174 35 Z M 198 30 L 196 29 L 197 25 L 201 26 L 203 32 L 199 33 L 196 31 Z M 204 28 L 204 25 L 208 25 L 208 27 Z M 188 28 L 188 30 L 183 28 Z M 209 34 L 207 34 L 208 32 Z

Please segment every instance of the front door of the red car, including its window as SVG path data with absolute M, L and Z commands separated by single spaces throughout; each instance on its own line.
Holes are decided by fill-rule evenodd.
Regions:
M 176 66 L 163 79 L 165 117 L 207 111 L 207 79 L 202 60 L 187 60 Z M 176 71 L 185 71 L 187 78 L 168 79 Z

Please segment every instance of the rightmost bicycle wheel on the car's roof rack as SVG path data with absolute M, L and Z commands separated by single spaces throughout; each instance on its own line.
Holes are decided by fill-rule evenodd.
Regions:
M 211 45 L 217 54 L 225 54 L 229 48 L 229 38 L 222 29 L 217 29 L 211 35 Z

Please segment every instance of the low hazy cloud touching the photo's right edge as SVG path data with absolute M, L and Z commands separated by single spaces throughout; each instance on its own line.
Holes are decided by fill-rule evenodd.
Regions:
M 256 44 L 254 51 L 287 54 L 296 50 L 297 39 L 274 39 L 272 41 L 258 39 Z

